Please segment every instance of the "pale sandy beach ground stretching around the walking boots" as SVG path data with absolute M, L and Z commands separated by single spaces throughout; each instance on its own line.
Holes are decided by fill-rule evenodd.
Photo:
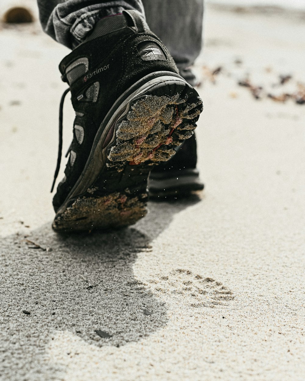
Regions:
M 305 105 L 267 97 L 305 82 L 305 23 L 208 8 L 205 40 L 201 200 L 65 237 L 50 187 L 68 50 L 37 24 L 0 30 L 1 381 L 305 379 Z M 72 120 L 66 102 L 64 150 Z

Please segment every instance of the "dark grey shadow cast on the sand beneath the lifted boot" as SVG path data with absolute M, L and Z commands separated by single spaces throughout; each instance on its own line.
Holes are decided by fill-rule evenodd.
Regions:
M 150 243 L 176 213 L 198 201 L 150 202 L 146 218 L 118 231 L 58 235 L 48 223 L 27 237 L 4 238 L 3 364 L 15 362 L 16 375 L 26 375 L 30 359 L 40 358 L 55 331 L 96 346 L 122 346 L 164 327 L 166 306 L 135 279 L 133 264 L 139 252 L 149 256 Z

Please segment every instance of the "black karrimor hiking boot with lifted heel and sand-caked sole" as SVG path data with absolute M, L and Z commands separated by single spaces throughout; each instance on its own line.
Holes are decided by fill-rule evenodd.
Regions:
M 135 11 L 101 19 L 59 69 L 76 117 L 53 229 L 133 224 L 146 214 L 150 170 L 193 134 L 202 101 Z

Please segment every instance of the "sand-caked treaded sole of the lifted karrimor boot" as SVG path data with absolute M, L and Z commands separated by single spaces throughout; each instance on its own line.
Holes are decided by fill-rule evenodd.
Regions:
M 152 166 L 169 160 L 193 134 L 201 111 L 196 90 L 177 74 L 155 72 L 131 86 L 101 123 L 53 229 L 117 228 L 144 217 Z

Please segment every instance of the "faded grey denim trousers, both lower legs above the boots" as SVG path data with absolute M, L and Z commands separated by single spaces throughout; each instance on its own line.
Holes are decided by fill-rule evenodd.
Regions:
M 204 0 L 37 0 L 43 30 L 74 48 L 95 23 L 123 10 L 140 12 L 169 49 L 179 69 L 194 63 L 201 50 Z

